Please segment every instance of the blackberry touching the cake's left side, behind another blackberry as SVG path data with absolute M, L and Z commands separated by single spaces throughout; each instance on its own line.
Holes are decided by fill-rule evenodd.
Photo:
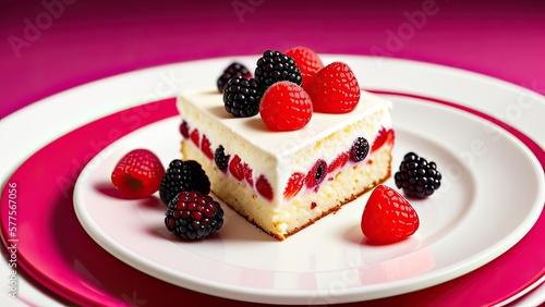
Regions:
M 161 179 L 159 196 L 166 205 L 182 191 L 210 193 L 210 181 L 197 161 L 174 159 Z

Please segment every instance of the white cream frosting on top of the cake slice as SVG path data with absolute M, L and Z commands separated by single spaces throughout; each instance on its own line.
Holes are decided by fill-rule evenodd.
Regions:
M 293 172 L 307 173 L 318 159 L 331 162 L 359 136 L 365 137 L 371 146 L 382 127 L 391 128 L 391 108 L 390 101 L 362 91 L 360 102 L 349 113 L 314 112 L 301 130 L 271 132 L 259 114 L 234 118 L 228 113 L 217 90 L 184 91 L 178 99 L 181 116 L 190 128 L 196 127 L 208 137 L 213 151 L 222 145 L 227 155 L 238 155 L 253 169 L 254 183 L 259 174 L 266 175 L 277 208 L 283 205 L 283 188 Z M 364 125 L 354 124 L 362 119 L 366 119 Z M 328 138 L 339 130 L 344 131 L 340 137 Z

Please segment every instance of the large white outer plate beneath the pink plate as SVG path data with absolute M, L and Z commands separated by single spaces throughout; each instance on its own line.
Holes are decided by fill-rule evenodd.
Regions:
M 209 78 L 209 72 L 220 70 L 233 59 L 253 65 L 256 58 L 227 57 L 138 70 L 62 91 L 10 114 L 0 121 L 0 138 L 3 144 L 17 146 L 11 147 L 11 150 L 0 150 L 0 160 L 5 162 L 0 168 L 2 185 L 22 162 L 51 140 L 112 112 L 173 97 L 181 88 L 213 86 L 214 82 Z M 545 113 L 545 99 L 535 91 L 485 75 L 417 61 L 341 54 L 324 54 L 323 59 L 325 62 L 340 60 L 350 63 L 365 88 L 398 90 L 455 101 L 460 106 L 496 116 L 537 142 L 542 148 L 545 146 L 545 131 L 541 125 L 542 114 Z M 78 101 L 78 103 L 73 103 L 73 101 Z M 56 119 L 55 125 L 50 124 L 51 115 Z M 28 123 L 40 128 L 28 130 L 26 128 Z M 510 266 L 509 263 L 526 259 L 530 254 L 534 253 L 531 245 L 538 246 L 538 242 L 524 242 L 514 254 L 505 255 L 501 261 L 509 267 L 507 272 L 502 270 L 501 274 L 486 275 L 477 271 L 472 273 L 472 279 L 486 281 L 492 279 L 493 283 L 499 282 L 498 279 L 502 278 L 512 280 L 509 277 L 512 275 L 513 270 L 516 271 L 517 265 Z M 66 259 L 69 260 L 71 259 Z M 500 268 L 494 262 L 492 266 L 492 268 Z M 29 270 L 39 278 L 45 287 L 52 288 L 57 294 L 68 295 L 66 293 L 71 291 L 81 290 L 72 284 L 62 284 L 62 288 L 57 290 L 55 286 L 58 275 L 48 274 L 39 267 L 29 267 Z M 4 275 L 9 274 L 8 262 L 0 266 L 0 272 Z M 74 270 L 72 274 L 76 275 L 78 272 Z M 85 277 L 82 277 L 82 280 L 85 280 Z M 514 293 L 513 291 L 526 285 L 525 280 L 521 281 L 520 278 L 514 280 L 516 282 L 510 285 L 509 290 L 496 287 L 494 299 L 509 297 Z M 537 279 L 535 283 L 530 284 L 529 288 L 540 282 L 541 279 Z M 488 285 L 486 288 L 493 291 L 495 287 Z M 3 293 L 8 293 L 7 287 L 4 290 Z M 31 302 L 28 305 L 62 305 L 41 290 L 43 287 L 36 286 L 34 280 L 20 279 L 19 297 L 21 300 Z M 108 291 L 106 288 L 100 294 L 118 295 Z M 464 292 L 457 288 L 450 293 Z M 2 297 L 4 295 L 2 294 Z M 481 291 L 475 293 L 474 297 L 481 299 L 476 302 L 491 302 L 489 298 L 484 298 L 485 295 Z

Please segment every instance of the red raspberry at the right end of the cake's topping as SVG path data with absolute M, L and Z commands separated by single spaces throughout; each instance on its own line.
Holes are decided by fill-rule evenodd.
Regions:
M 316 112 L 348 113 L 360 102 L 358 79 L 342 62 L 334 62 L 322 69 L 305 89 Z

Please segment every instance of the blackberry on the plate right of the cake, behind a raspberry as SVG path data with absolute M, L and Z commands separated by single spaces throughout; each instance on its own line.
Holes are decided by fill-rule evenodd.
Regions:
M 409 197 L 424 198 L 434 194 L 441 183 L 441 173 L 433 161 L 408 152 L 393 175 L 396 186 Z

